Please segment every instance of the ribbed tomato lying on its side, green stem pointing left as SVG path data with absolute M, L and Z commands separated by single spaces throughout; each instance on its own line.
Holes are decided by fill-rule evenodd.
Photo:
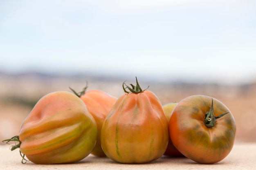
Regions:
M 73 93 L 57 91 L 42 97 L 20 127 L 21 155 L 37 164 L 72 163 L 95 146 L 97 125 L 84 102 Z M 24 161 L 24 155 L 22 161 Z M 23 163 L 23 162 L 22 162 Z

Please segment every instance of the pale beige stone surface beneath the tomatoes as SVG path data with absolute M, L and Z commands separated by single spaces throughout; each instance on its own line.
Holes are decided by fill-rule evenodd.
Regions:
M 0 145 L 0 170 L 256 170 L 256 143 L 236 143 L 222 161 L 204 165 L 188 158 L 161 157 L 145 164 L 121 164 L 111 159 L 89 155 L 72 164 L 37 165 L 21 163 L 19 150 L 10 151 L 8 145 Z

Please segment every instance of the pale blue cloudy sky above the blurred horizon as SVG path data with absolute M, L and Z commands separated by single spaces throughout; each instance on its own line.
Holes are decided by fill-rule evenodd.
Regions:
M 256 80 L 256 0 L 0 0 L 0 71 L 29 70 Z

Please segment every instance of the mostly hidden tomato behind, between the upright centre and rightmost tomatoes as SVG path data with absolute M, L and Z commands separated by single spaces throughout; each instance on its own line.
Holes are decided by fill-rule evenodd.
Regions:
M 175 108 L 175 106 L 177 104 L 178 104 L 177 102 L 172 102 L 172 103 L 165 104 L 163 106 L 164 113 L 165 113 L 168 121 L 170 120 L 173 109 Z M 184 155 L 182 155 L 182 153 L 180 153 L 179 150 L 177 150 L 177 148 L 175 148 L 175 146 L 173 145 L 173 142 L 171 141 L 170 135 L 169 135 L 169 143 L 168 143 L 168 146 L 166 148 L 166 151 L 164 152 L 164 155 L 167 155 L 167 156 L 170 156 L 170 157 L 184 156 Z

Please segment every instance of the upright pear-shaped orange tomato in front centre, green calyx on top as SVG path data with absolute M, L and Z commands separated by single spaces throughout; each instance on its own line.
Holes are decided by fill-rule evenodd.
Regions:
M 159 99 L 153 92 L 142 90 L 137 77 L 136 82 L 132 88 L 123 83 L 125 93 L 117 99 L 101 129 L 103 151 L 119 163 L 156 160 L 168 144 L 168 121 Z

